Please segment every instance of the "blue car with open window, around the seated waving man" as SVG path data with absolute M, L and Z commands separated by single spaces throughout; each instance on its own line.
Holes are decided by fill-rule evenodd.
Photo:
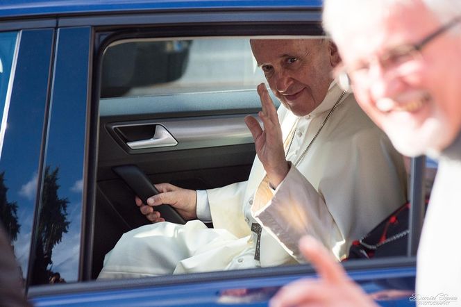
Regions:
M 320 38 L 321 5 L 1 1 L 1 219 L 35 306 L 266 306 L 315 278 L 290 265 L 96 280 L 121 234 L 149 223 L 117 167 L 141 170 L 135 183 L 145 173 L 191 189 L 248 179 L 255 148 L 242 119 L 260 110 L 265 81 L 249 38 Z M 343 263 L 382 306 L 414 306 L 424 171 L 437 165 L 408 161 L 407 249 Z

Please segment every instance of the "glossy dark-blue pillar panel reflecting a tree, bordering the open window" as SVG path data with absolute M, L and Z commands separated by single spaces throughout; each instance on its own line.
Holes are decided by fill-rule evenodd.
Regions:
M 33 285 L 78 280 L 89 35 L 89 28 L 58 30 Z

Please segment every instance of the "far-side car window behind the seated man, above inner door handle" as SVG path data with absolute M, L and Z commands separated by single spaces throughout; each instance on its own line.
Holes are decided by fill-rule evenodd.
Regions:
M 248 39 L 119 41 L 103 57 L 101 97 L 253 90 L 262 81 Z

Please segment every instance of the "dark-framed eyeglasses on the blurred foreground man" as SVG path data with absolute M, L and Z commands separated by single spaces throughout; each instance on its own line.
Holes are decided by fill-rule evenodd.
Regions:
M 401 45 L 383 53 L 381 56 L 376 56 L 372 60 L 356 65 L 355 67 L 343 66 L 340 69 L 335 69 L 338 83 L 343 90 L 351 92 L 351 90 L 353 90 L 353 81 L 355 83 L 360 81 L 361 84 L 362 81 L 364 81 L 364 83 L 369 82 L 369 69 L 375 61 L 385 72 L 393 71 L 395 74 L 399 75 L 408 74 L 411 72 L 411 67 L 410 69 L 403 68 L 408 68 L 408 64 L 417 63 L 418 60 L 421 60 L 421 50 L 426 44 L 448 31 L 455 26 L 455 24 L 458 24 L 458 22 L 461 22 L 461 16 L 455 17 L 451 22 L 437 28 L 437 30 L 427 35 L 417 44 Z

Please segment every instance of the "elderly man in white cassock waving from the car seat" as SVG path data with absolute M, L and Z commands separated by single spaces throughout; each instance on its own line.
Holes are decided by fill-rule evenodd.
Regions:
M 249 180 L 204 191 L 156 184 L 160 194 L 147 204 L 136 199 L 155 224 L 122 235 L 99 279 L 302 263 L 305 234 L 341 260 L 353 240 L 405 203 L 401 155 L 332 78 L 335 44 L 251 40 L 251 49 L 282 104 L 276 111 L 258 85 L 264 128 L 246 117 L 258 155 Z M 160 204 L 189 222 L 165 222 Z

